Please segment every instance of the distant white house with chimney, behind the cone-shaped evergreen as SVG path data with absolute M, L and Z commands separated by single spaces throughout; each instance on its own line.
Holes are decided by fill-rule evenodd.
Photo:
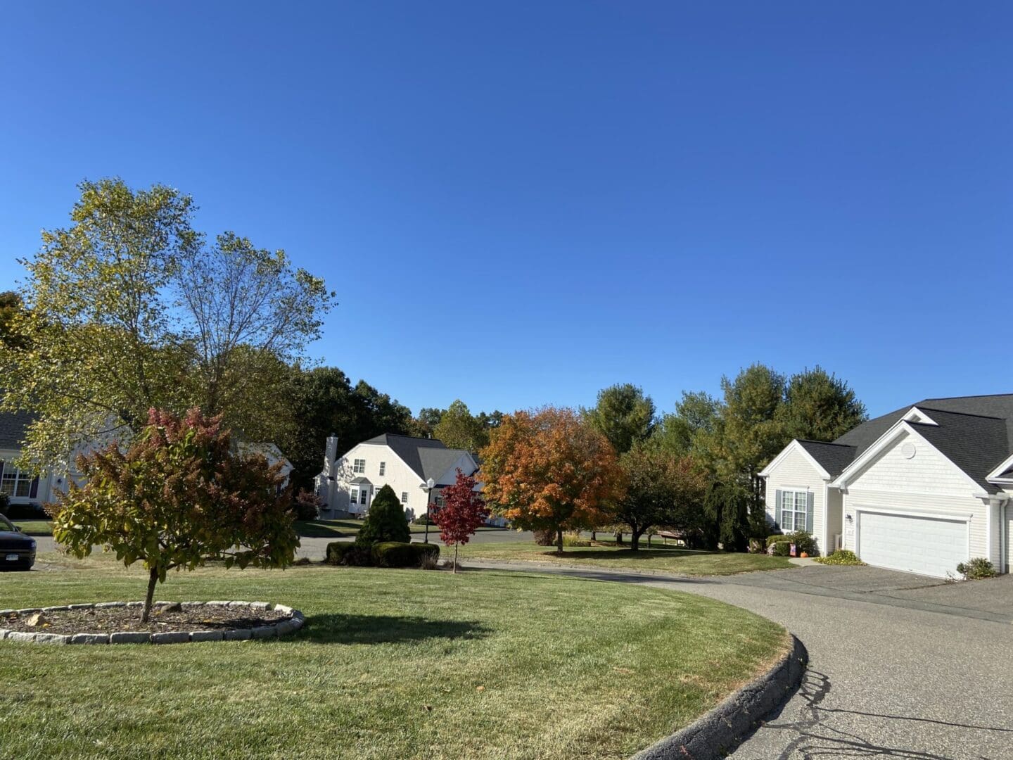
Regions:
M 394 489 L 410 514 L 421 517 L 430 509 L 426 481 L 435 486 L 432 503 L 440 505 L 441 490 L 453 485 L 457 470 L 471 475 L 478 469 L 475 457 L 464 449 L 449 449 L 432 438 L 413 438 L 385 433 L 337 456 L 337 438 L 327 439 L 323 470 L 316 477 L 316 493 L 324 503 L 323 514 L 364 515 L 384 485 Z

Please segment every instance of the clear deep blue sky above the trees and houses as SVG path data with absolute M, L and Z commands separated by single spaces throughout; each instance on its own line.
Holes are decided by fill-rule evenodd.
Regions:
M 120 175 L 324 276 L 314 355 L 414 410 L 1013 391 L 1011 51 L 1006 2 L 12 3 L 0 287 Z

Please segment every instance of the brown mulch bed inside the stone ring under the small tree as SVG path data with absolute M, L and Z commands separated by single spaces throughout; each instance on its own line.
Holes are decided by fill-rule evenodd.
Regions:
M 141 607 L 92 607 L 75 610 L 43 612 L 43 623 L 28 625 L 32 613 L 12 612 L 0 615 L 0 628 L 26 633 L 113 633 L 116 631 L 228 630 L 275 625 L 291 618 L 290 613 L 250 607 L 219 607 L 200 605 L 168 611 L 157 605 L 151 608 L 151 619 L 141 622 Z

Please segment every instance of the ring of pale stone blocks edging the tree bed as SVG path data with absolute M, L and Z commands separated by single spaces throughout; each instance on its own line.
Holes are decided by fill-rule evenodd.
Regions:
M 140 607 L 143 602 L 99 602 L 97 604 L 72 604 L 62 607 L 31 607 L 20 610 L 0 610 L 2 614 L 16 612 L 20 615 L 30 615 L 36 612 L 55 612 L 65 610 L 86 610 L 106 607 Z M 172 602 L 156 602 L 158 605 L 173 604 Z M 270 625 L 260 625 L 255 628 L 229 628 L 228 630 L 193 630 L 165 631 L 151 633 L 149 631 L 115 631 L 113 633 L 46 633 L 8 630 L 0 628 L 0 640 L 30 641 L 32 643 L 73 643 L 73 644 L 108 644 L 108 643 L 188 643 L 191 641 L 236 641 L 249 638 L 275 638 L 299 630 L 306 621 L 306 616 L 299 610 L 284 604 L 270 602 L 182 602 L 183 607 L 249 607 L 252 610 L 272 610 L 284 615 L 291 615 Z

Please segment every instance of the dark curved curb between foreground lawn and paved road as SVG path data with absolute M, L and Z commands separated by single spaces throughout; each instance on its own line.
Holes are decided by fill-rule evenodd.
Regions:
M 652 744 L 633 760 L 718 760 L 757 727 L 798 685 L 808 662 L 805 647 L 791 636 L 791 650 L 770 671 L 744 686 L 706 715 Z

